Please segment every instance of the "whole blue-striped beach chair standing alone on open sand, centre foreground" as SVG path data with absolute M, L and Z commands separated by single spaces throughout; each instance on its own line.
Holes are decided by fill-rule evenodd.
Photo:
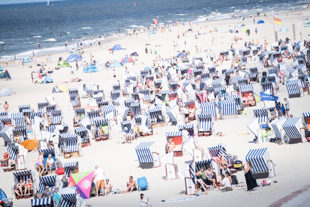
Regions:
M 153 153 L 157 154 L 156 142 L 141 142 L 136 146 L 135 151 L 139 160 L 139 167 L 142 169 L 153 168 Z

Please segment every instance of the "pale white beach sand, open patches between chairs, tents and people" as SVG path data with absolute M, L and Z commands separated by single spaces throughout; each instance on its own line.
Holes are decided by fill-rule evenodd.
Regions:
M 279 31 L 281 26 L 287 26 L 289 31 L 278 33 L 279 38 L 285 40 L 286 37 L 289 37 L 293 42 L 293 32 L 292 32 L 292 24 L 295 24 L 296 28 L 296 38 L 300 41 L 300 32 L 302 32 L 302 40 L 308 38 L 309 28 L 302 27 L 299 28 L 299 22 L 302 19 L 309 18 L 309 11 L 303 10 L 303 16 L 292 16 L 291 12 L 289 16 L 286 15 L 285 12 L 281 12 L 281 16 L 278 18 L 282 20 L 282 25 L 275 25 L 276 31 Z M 270 18 L 270 16 L 269 16 Z M 259 39 L 260 44 L 263 44 L 264 39 L 267 39 L 269 45 L 274 42 L 273 37 L 273 26 L 270 24 L 270 20 L 265 18 L 263 14 L 261 17 L 256 17 L 256 22 L 258 20 L 264 20 L 265 24 L 253 24 L 253 20 L 249 17 L 246 18 L 245 22 L 247 28 L 250 29 L 250 39 L 254 39 L 256 43 L 256 38 Z M 139 72 L 145 66 L 150 66 L 154 56 L 154 51 L 157 50 L 157 53 L 161 55 L 161 57 L 170 57 L 177 54 L 177 51 L 181 51 L 185 49 L 189 50 L 192 54 L 195 53 L 195 45 L 198 48 L 209 49 L 211 48 L 215 55 L 218 56 L 219 50 L 224 50 L 230 48 L 230 43 L 234 43 L 232 41 L 234 36 L 242 37 L 244 40 L 238 41 L 237 45 L 234 43 L 234 48 L 239 48 L 244 45 L 244 42 L 249 40 L 249 37 L 246 36 L 246 33 L 237 33 L 237 34 L 227 34 L 226 31 L 228 29 L 232 29 L 234 25 L 237 25 L 239 20 L 221 20 L 214 21 L 208 23 L 201 23 L 193 25 L 194 31 L 199 30 L 209 31 L 209 29 L 204 29 L 204 26 L 208 27 L 216 27 L 219 32 L 213 34 L 203 34 L 200 39 L 194 38 L 194 33 L 186 33 L 185 37 L 182 36 L 182 33 L 188 28 L 188 25 L 185 27 L 172 27 L 171 32 L 168 32 L 166 29 L 165 33 L 157 33 L 152 34 L 151 37 L 148 37 L 148 34 L 138 34 L 137 37 L 132 38 L 117 38 L 112 42 L 105 43 L 102 42 L 103 47 L 95 47 L 91 48 L 92 55 L 95 56 L 96 61 L 106 62 L 108 60 L 121 60 L 125 56 L 125 54 L 130 54 L 132 52 L 138 52 L 139 60 L 144 61 L 144 65 L 131 65 L 126 64 L 130 71 Z M 232 27 L 229 27 L 232 26 Z M 202 27 L 202 29 L 200 29 Z M 258 34 L 255 35 L 254 29 L 258 28 Z M 177 40 L 177 34 L 180 34 L 180 39 Z M 217 45 L 211 47 L 211 38 L 217 38 Z M 221 45 L 221 37 L 224 37 L 224 46 Z M 178 42 L 179 47 L 177 51 L 173 51 L 173 41 Z M 186 40 L 187 47 L 184 47 L 184 40 Z M 122 47 L 126 47 L 127 50 L 115 51 L 114 55 L 110 55 L 107 51 L 108 48 L 113 47 L 116 43 L 121 44 Z M 146 43 L 152 44 L 151 46 L 145 46 Z M 155 47 L 155 45 L 160 44 L 161 47 Z M 93 44 L 94 45 L 94 44 Z M 144 49 L 145 47 L 149 49 L 152 48 L 153 55 L 150 53 L 145 55 Z M 68 47 L 70 48 L 70 46 Z M 85 57 L 84 60 L 89 61 L 90 55 L 89 50 L 84 49 L 86 54 L 83 55 Z M 204 56 L 204 53 L 199 54 Z M 31 56 L 31 54 L 29 54 Z M 52 54 L 52 63 L 47 63 L 47 68 L 55 68 L 57 64 L 58 57 L 66 58 L 68 56 L 67 53 L 58 53 Z M 45 57 L 37 57 L 38 63 L 41 63 L 45 60 Z M 28 68 L 28 66 L 32 65 L 34 68 Z M 73 69 L 75 70 L 75 63 L 71 63 Z M 44 96 L 51 93 L 52 88 L 55 85 L 61 84 L 63 81 L 69 81 L 73 76 L 70 76 L 69 69 L 62 69 L 55 71 L 54 74 L 51 74 L 51 78 L 54 80 L 54 83 L 50 84 L 39 84 L 34 85 L 31 83 L 31 71 L 39 70 L 39 67 L 35 66 L 34 63 L 26 63 L 25 69 L 19 69 L 18 64 L 15 62 L 9 63 L 9 66 L 6 67 L 4 63 L 1 63 L 1 66 L 4 69 L 9 70 L 12 80 L 9 82 L 1 81 L 1 87 L 9 87 L 13 90 L 13 92 L 17 93 L 17 96 L 10 97 L 1 97 L 0 101 L 7 101 L 10 105 L 9 110 L 13 112 L 17 112 L 18 105 L 22 104 L 30 104 L 32 108 L 37 108 L 38 102 L 43 102 Z M 218 70 L 230 68 L 229 62 L 224 62 L 223 66 L 217 67 Z M 116 68 L 117 77 L 120 78 L 122 74 L 124 74 L 124 67 Z M 112 88 L 113 81 L 113 70 L 100 71 L 98 73 L 90 73 L 90 74 L 80 74 L 76 73 L 74 77 L 79 77 L 83 79 L 82 82 L 79 83 L 64 83 L 67 88 L 78 87 L 82 83 L 96 83 L 100 84 L 101 88 L 106 90 L 106 93 Z M 261 91 L 260 84 L 253 84 L 255 88 L 255 92 Z M 280 91 L 277 95 L 283 99 L 284 97 L 288 97 L 288 93 L 285 85 L 280 85 Z M 72 126 L 72 119 L 74 111 L 67 110 L 67 105 L 65 103 L 65 98 L 68 96 L 67 93 L 54 93 L 55 100 L 57 101 L 59 106 L 62 106 L 62 110 L 65 114 L 65 123 Z M 82 106 L 86 105 L 88 100 L 81 99 Z M 302 98 L 294 98 L 289 99 L 290 101 L 290 113 L 294 116 L 301 116 L 302 112 L 309 111 L 309 101 L 310 96 L 305 96 Z M 261 108 L 263 106 L 260 106 Z M 261 143 L 254 144 L 253 141 L 254 135 L 250 133 L 250 135 L 239 136 L 240 133 L 250 132 L 246 127 L 246 124 L 253 118 L 253 109 L 258 109 L 258 106 L 246 108 L 245 116 L 238 116 L 238 119 L 229 119 L 229 120 L 218 120 L 215 121 L 215 131 L 223 132 L 228 134 L 227 137 L 202 137 L 199 138 L 199 145 L 206 149 L 207 147 L 217 145 L 219 143 L 224 143 L 227 145 L 227 150 L 232 152 L 232 154 L 237 155 L 239 160 L 243 160 L 245 162 L 245 155 L 250 149 L 260 148 L 260 147 L 268 147 L 270 158 L 273 160 L 275 164 L 276 177 L 271 178 L 272 181 L 277 180 L 278 183 L 272 183 L 270 187 L 257 188 L 256 191 L 253 191 L 250 195 L 247 194 L 246 190 L 237 190 L 234 187 L 234 190 L 227 193 L 221 193 L 218 191 L 210 191 L 207 196 L 199 196 L 198 199 L 194 199 L 193 201 L 184 201 L 184 202 L 176 202 L 169 204 L 162 204 L 161 206 L 185 206 L 185 205 L 222 205 L 222 206 L 237 206 L 237 205 L 251 205 L 251 206 L 268 206 L 272 202 L 285 197 L 287 194 L 298 190 L 300 187 L 309 184 L 308 179 L 308 162 L 307 159 L 310 156 L 310 151 L 308 150 L 308 143 L 299 143 L 294 145 L 277 145 L 274 143 Z M 1 105 L 1 111 L 3 111 Z M 197 121 L 193 122 L 194 124 Z M 92 146 L 82 148 L 83 156 L 79 158 L 71 158 L 61 161 L 72 162 L 78 160 L 83 165 L 86 166 L 87 170 L 94 170 L 95 165 L 100 166 L 105 170 L 105 178 L 110 180 L 110 183 L 113 184 L 113 189 L 125 190 L 126 182 L 128 177 L 132 175 L 134 179 L 146 176 L 149 182 L 150 190 L 144 191 L 146 197 L 149 197 L 150 203 L 157 206 L 161 200 L 168 200 L 171 198 L 182 198 L 188 197 L 184 195 L 185 193 L 185 185 L 179 179 L 177 180 L 168 180 L 164 181 L 163 177 L 165 176 L 165 169 L 163 166 L 155 169 L 141 169 L 138 168 L 137 155 L 135 153 L 135 147 L 143 141 L 156 141 L 157 152 L 160 155 L 165 153 L 164 147 L 166 145 L 166 137 L 164 136 L 167 131 L 176 131 L 176 126 L 168 126 L 164 128 L 155 128 L 154 135 L 151 137 L 139 138 L 138 141 L 133 142 L 132 144 L 120 144 L 118 143 L 118 139 L 112 139 L 104 142 L 96 142 L 94 143 L 92 140 Z M 157 135 L 155 135 L 158 133 Z M 29 136 L 32 137 L 32 136 Z M 0 140 L 0 154 L 2 155 L 7 148 L 3 146 L 3 139 Z M 28 169 L 34 170 L 35 162 L 31 160 L 36 159 L 38 156 L 37 152 L 31 152 L 27 155 L 26 166 Z M 187 165 L 192 157 L 183 156 L 183 157 L 175 157 L 175 164 L 178 164 L 178 168 L 182 169 L 185 165 Z M 236 173 L 239 182 L 245 183 L 243 172 Z M 1 177 L 1 188 L 6 192 L 8 197 L 13 197 L 11 194 L 11 187 L 14 185 L 12 172 L 3 173 L 0 171 Z M 262 180 L 258 180 L 258 182 L 262 182 Z M 211 202 L 210 202 L 211 201 Z M 138 206 L 139 205 L 139 192 L 133 192 L 129 194 L 123 195 L 109 195 L 107 197 L 100 198 L 91 198 L 87 200 L 87 204 L 91 204 L 93 206 L 101 206 L 102 204 L 106 206 Z M 14 206 L 29 206 L 30 199 L 27 200 L 15 200 Z

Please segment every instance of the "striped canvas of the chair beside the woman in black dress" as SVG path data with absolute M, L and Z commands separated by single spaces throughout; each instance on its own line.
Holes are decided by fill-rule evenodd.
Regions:
M 252 173 L 268 171 L 267 159 L 269 159 L 268 148 L 250 150 L 246 155 L 246 161 L 251 162 Z

